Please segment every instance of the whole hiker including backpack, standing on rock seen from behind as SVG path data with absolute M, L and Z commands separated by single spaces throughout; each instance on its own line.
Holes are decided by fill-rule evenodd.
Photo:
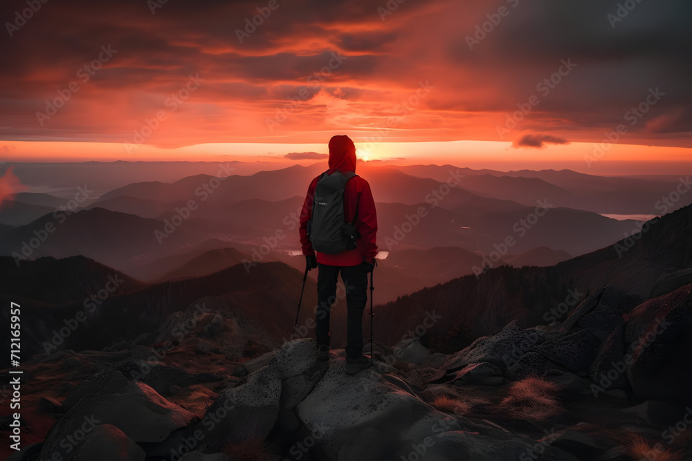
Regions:
M 346 373 L 370 366 L 363 355 L 367 274 L 376 265 L 377 216 L 366 180 L 356 175 L 356 146 L 347 135 L 329 140 L 329 169 L 313 179 L 300 213 L 306 270 L 319 267 L 316 337 L 318 358 L 329 359 L 329 313 L 339 273 L 346 288 Z M 306 272 L 307 273 L 307 272 Z

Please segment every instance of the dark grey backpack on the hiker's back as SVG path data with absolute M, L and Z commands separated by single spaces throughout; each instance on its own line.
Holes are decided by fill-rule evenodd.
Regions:
M 325 171 L 318 180 L 313 197 L 312 219 L 308 223 L 308 236 L 316 252 L 334 254 L 357 247 L 356 239 L 361 237 L 355 227 L 361 201 L 360 192 L 353 222 L 346 223 L 344 216 L 346 183 L 355 176 L 358 175 L 353 171 L 342 173 L 336 170 L 330 175 Z

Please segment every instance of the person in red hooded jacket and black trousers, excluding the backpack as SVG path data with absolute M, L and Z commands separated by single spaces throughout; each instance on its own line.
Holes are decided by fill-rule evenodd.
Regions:
M 356 171 L 356 146 L 347 135 L 334 136 L 329 140 L 327 175 L 336 173 L 337 170 L 342 173 Z M 322 175 L 318 176 L 310 183 L 300 214 L 300 243 L 307 269 L 319 267 L 316 315 L 318 358 L 322 361 L 329 359 L 329 313 L 331 305 L 336 301 L 336 282 L 340 273 L 346 288 L 348 310 L 346 373 L 355 375 L 370 366 L 370 360 L 363 356 L 363 309 L 367 302 L 367 274 L 372 272 L 377 254 L 375 203 L 366 180 L 360 176 L 349 179 L 343 194 L 344 218 L 346 223 L 354 223 L 360 233 L 357 246 L 354 250 L 334 254 L 316 253 L 308 235 L 308 223 L 312 219 L 313 198 L 321 177 Z

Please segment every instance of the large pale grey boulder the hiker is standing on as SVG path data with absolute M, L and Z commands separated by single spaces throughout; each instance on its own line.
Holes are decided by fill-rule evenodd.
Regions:
M 435 410 L 373 370 L 354 376 L 336 359 L 296 407 L 329 460 L 504 460 L 533 442 L 493 426 Z M 321 458 L 320 458 L 321 459 Z M 576 461 L 548 447 L 543 460 Z

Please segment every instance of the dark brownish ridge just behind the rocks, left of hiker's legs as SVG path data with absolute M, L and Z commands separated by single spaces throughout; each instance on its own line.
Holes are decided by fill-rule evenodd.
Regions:
M 51 264 L 51 261 L 46 263 Z M 113 294 L 95 308 L 85 307 L 82 301 L 55 305 L 25 299 L 22 303 L 22 352 L 26 357 L 44 352 L 44 341 L 50 342 L 55 331 L 65 326 L 66 320 L 78 318 L 80 311 L 85 312 L 86 321 L 78 323 L 57 348 L 98 350 L 118 341 L 133 340 L 157 330 L 172 312 L 194 304 L 202 305 L 205 299 L 210 303 L 215 299 L 215 305 L 221 303 L 232 312 L 242 311 L 265 328 L 275 341 L 282 341 L 291 335 L 301 285 L 302 272 L 284 263 L 262 263 L 249 271 L 239 264 L 208 276 L 166 281 L 136 292 Z M 314 319 L 316 292 L 315 282 L 309 279 L 299 326 L 309 324 L 306 323 L 309 317 Z M 78 294 L 75 296 L 82 299 Z M 8 315 L 9 310 L 3 310 L 3 319 Z M 332 338 L 338 345 L 345 338 L 345 307 L 336 306 L 331 315 Z M 309 335 L 313 334 L 310 330 Z

